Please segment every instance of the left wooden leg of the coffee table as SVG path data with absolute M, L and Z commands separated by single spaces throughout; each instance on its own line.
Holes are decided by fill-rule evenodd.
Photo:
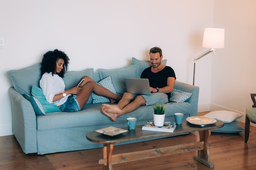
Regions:
M 103 170 L 112 170 L 112 153 L 113 153 L 113 144 L 104 144 L 103 158 L 107 159 L 107 163 L 103 164 Z

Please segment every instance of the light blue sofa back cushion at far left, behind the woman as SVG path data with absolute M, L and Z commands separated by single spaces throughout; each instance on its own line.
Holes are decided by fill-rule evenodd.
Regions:
M 32 85 L 39 87 L 39 80 L 41 78 L 40 69 L 41 63 L 37 63 L 20 70 L 10 70 L 7 74 L 17 92 L 31 95 Z

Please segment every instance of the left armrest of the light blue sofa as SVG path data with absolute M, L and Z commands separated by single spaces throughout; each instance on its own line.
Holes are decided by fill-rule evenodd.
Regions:
M 11 98 L 12 131 L 24 153 L 37 153 L 36 114 L 31 103 L 13 87 Z

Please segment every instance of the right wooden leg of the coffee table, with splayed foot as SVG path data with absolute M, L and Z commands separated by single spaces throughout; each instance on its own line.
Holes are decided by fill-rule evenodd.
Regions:
M 200 142 L 204 142 L 204 149 L 198 150 L 198 156 L 193 158 L 209 168 L 214 168 L 214 164 L 209 161 L 209 137 L 211 136 L 211 130 L 199 131 L 199 136 Z

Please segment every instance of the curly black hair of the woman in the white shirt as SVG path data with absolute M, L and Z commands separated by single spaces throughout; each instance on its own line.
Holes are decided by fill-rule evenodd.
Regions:
M 68 64 L 70 63 L 69 62 L 70 59 L 67 57 L 67 54 L 65 54 L 65 52 L 59 51 L 57 49 L 54 51 L 48 51 L 43 55 L 43 59 L 41 63 L 41 76 L 45 72 L 47 73 L 52 72 L 52 76 L 53 76 L 54 72 L 56 71 L 56 62 L 58 61 L 58 59 L 63 59 L 64 65 L 61 72 L 56 74 L 58 74 L 58 76 L 63 78 L 64 74 L 68 70 Z

